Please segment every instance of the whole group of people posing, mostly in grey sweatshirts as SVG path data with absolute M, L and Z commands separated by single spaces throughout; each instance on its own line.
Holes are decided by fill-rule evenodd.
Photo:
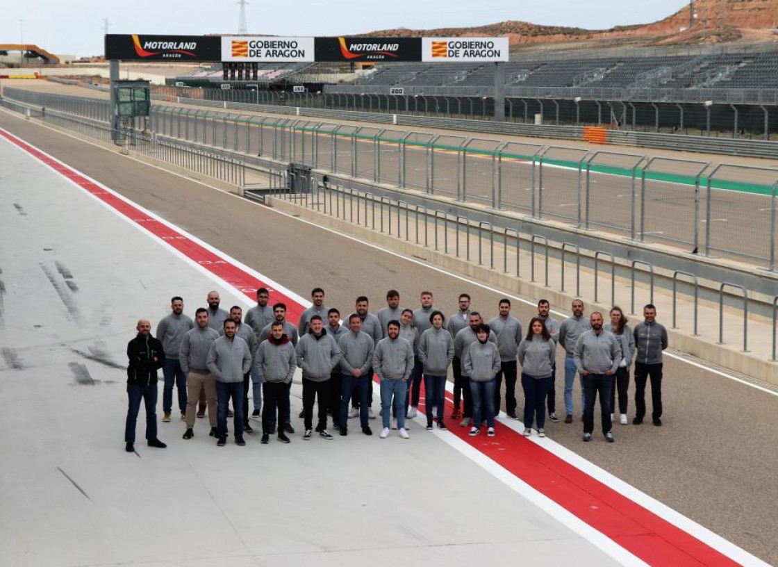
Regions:
M 524 390 L 524 436 L 545 436 L 546 408 L 552 422 L 555 410 L 556 345 L 565 351 L 565 423 L 573 422 L 573 382 L 580 376 L 584 408 L 584 441 L 594 429 L 594 403 L 600 397 L 605 439 L 614 441 L 612 420 L 619 394 L 619 421 L 627 423 L 629 368 L 635 359 L 634 424 L 646 414 L 645 387 L 650 377 L 652 420 L 661 425 L 662 351 L 668 337 L 656 321 L 656 308 L 645 306 L 644 320 L 634 331 L 619 307 L 604 324 L 601 313 L 584 317 L 584 303 L 573 301 L 572 314 L 559 324 L 549 317 L 549 304 L 538 302 L 538 313 L 522 333 L 510 314 L 510 299 L 499 300 L 499 313 L 486 322 L 471 310 L 471 297 L 461 293 L 458 310 L 449 318 L 433 305 L 424 291 L 415 310 L 400 305 L 396 290 L 387 292 L 387 305 L 369 311 L 366 296 L 356 298 L 354 311 L 341 324 L 339 310 L 324 305 L 324 290 L 311 292 L 312 305 L 297 325 L 286 319 L 286 305 L 269 303 L 268 289 L 257 290 L 257 305 L 245 317 L 240 306 L 219 308 L 219 293 L 209 292 L 208 307 L 184 314 L 184 300 L 171 300 L 171 313 L 159 321 L 156 336 L 149 320 L 139 320 L 138 334 L 128 343 L 128 415 L 126 450 L 135 450 L 135 425 L 145 402 L 149 446 L 165 447 L 157 437 L 157 370 L 163 370 L 163 422 L 170 422 L 173 390 L 186 423 L 184 439 L 194 436 L 196 417 L 205 417 L 219 446 L 226 444 L 227 418 L 233 417 L 235 443 L 244 446 L 244 432 L 252 432 L 250 418 L 261 420 L 261 443 L 271 435 L 289 443 L 294 433 L 289 415 L 289 389 L 296 368 L 302 372 L 303 439 L 314 432 L 333 439 L 349 433 L 349 418 L 359 417 L 365 435 L 373 435 L 373 376 L 380 383 L 382 439 L 397 429 L 408 439 L 405 418 L 418 415 L 424 383 L 426 429 L 447 429 L 444 394 L 449 367 L 454 377 L 454 411 L 450 418 L 477 436 L 485 426 L 495 436 L 503 382 L 509 418 L 518 419 L 516 385 Z M 249 415 L 251 385 L 253 411 Z M 264 400 L 264 404 L 262 403 Z M 232 409 L 230 409 L 230 401 Z M 314 428 L 314 405 L 317 406 Z

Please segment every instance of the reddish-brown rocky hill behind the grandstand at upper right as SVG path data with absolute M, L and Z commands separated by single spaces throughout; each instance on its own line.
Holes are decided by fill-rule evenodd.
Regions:
M 697 0 L 658 22 L 616 26 L 610 30 L 539 26 L 510 20 L 471 28 L 380 30 L 374 37 L 507 36 L 513 51 L 546 51 L 582 47 L 638 47 L 725 42 L 778 42 L 778 0 Z M 691 23 L 691 25 L 690 25 Z

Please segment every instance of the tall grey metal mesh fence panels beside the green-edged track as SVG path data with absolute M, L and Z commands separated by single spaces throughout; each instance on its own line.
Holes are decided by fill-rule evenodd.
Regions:
M 41 101 L 99 114 L 82 107 L 90 100 Z M 149 128 L 166 138 L 776 266 L 778 169 L 711 170 L 701 161 L 188 107 L 153 107 Z

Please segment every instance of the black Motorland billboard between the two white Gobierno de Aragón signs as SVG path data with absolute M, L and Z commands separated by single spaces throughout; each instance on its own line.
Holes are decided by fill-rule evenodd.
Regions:
M 317 37 L 316 61 L 421 61 L 420 37 Z

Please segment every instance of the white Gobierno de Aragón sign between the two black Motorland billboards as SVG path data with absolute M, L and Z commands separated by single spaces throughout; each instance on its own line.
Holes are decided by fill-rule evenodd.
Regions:
M 222 61 L 313 62 L 313 37 L 223 36 Z

